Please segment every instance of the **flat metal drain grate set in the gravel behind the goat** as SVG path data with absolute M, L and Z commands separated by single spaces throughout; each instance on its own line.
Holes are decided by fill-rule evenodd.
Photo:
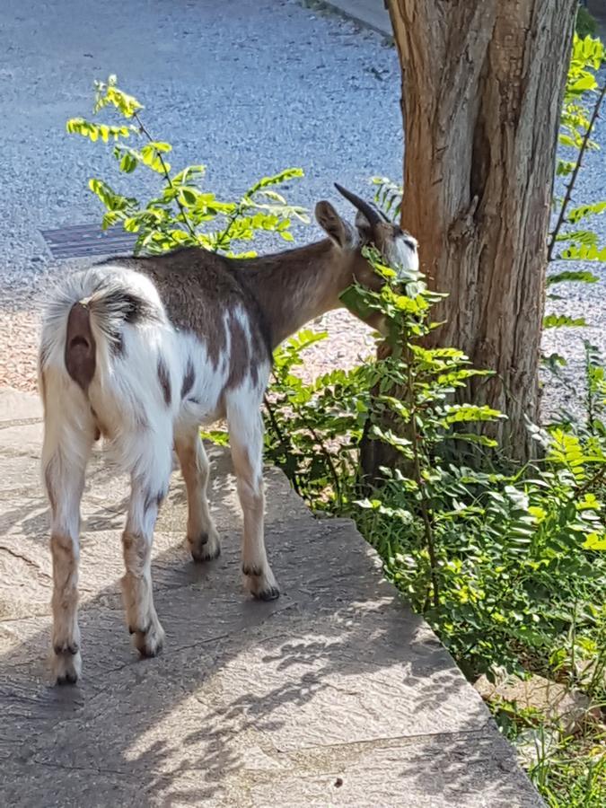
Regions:
M 97 224 L 73 224 L 40 233 L 54 259 L 131 253 L 136 242 L 136 233 L 125 233 L 117 228 L 101 230 Z

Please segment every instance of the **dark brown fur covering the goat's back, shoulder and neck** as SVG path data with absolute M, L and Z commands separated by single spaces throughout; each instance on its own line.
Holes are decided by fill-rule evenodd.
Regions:
M 215 370 L 226 353 L 225 312 L 242 309 L 250 324 L 253 382 L 283 339 L 342 305 L 339 294 L 354 278 L 364 284 L 375 278 L 359 249 L 339 250 L 329 239 L 254 259 L 229 259 L 186 247 L 160 256 L 111 260 L 151 278 L 171 323 L 196 334 Z M 230 357 L 230 375 L 237 377 L 232 362 Z

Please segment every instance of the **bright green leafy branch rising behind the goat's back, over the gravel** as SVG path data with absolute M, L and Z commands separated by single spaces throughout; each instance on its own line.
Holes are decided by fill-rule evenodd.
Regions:
M 286 180 L 302 177 L 301 169 L 286 169 L 264 177 L 238 201 L 222 201 L 198 185 L 205 173 L 204 165 L 189 165 L 171 173 L 164 156 L 172 151 L 171 144 L 154 139 L 141 116 L 143 104 L 119 88 L 115 75 L 110 75 L 107 82 L 95 82 L 93 113 L 100 114 L 107 108 L 121 119 L 118 124 L 74 118 L 67 121 L 66 128 L 70 134 L 93 143 L 111 142 L 112 155 L 122 173 L 130 174 L 138 166 L 145 166 L 162 177 L 158 193 L 145 204 L 120 194 L 105 180 L 89 181 L 89 188 L 106 208 L 103 228 L 121 224 L 127 232 L 138 233 L 136 252 L 197 246 L 233 254 L 233 243 L 251 241 L 259 232 L 277 233 L 285 241 L 292 241 L 292 221 L 309 221 L 303 207 L 288 205 L 275 189 Z M 130 145 L 135 137 L 145 139 L 140 149 Z

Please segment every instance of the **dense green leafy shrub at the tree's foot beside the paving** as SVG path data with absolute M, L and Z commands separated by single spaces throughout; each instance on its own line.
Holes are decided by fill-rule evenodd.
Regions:
M 575 654 L 591 656 L 606 618 L 602 365 L 591 352 L 586 423 L 529 425 L 544 445 L 543 461 L 515 473 L 468 468 L 461 444 L 494 448 L 469 426 L 502 416 L 449 400 L 455 386 L 487 372 L 470 368 L 456 349 L 423 347 L 436 295 L 418 276 L 400 288 L 390 268 L 369 258 L 384 278 L 382 292 L 356 287 L 346 299 L 350 308 L 386 316 L 391 356 L 305 384 L 294 367 L 323 335 L 308 332 L 278 349 L 268 457 L 313 507 L 355 516 L 385 574 L 471 678 L 496 667 L 522 672 L 521 659 L 545 671 L 556 659 L 563 670 Z M 382 426 L 386 411 L 392 429 Z M 360 499 L 364 433 L 390 444 L 401 462 Z

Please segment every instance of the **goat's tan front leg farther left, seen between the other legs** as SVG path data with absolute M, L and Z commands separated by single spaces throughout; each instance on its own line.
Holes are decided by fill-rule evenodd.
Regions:
M 194 561 L 211 561 L 221 552 L 219 534 L 208 509 L 206 487 L 209 463 L 200 440 L 198 424 L 180 426 L 175 449 L 188 491 L 188 544 Z

